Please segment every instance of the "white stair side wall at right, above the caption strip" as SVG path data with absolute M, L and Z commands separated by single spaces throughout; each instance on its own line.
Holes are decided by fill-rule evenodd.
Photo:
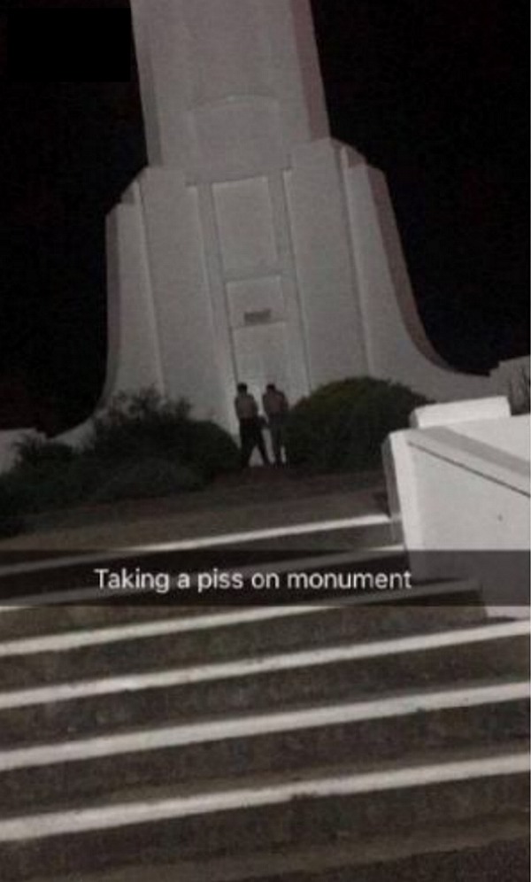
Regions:
M 406 547 L 526 549 L 528 439 L 526 416 L 393 433 L 384 455 Z

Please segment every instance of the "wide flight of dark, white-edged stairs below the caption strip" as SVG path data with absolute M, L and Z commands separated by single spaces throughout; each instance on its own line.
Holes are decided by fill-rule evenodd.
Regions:
M 528 626 L 474 600 L 4 607 L 0 878 L 524 882 Z

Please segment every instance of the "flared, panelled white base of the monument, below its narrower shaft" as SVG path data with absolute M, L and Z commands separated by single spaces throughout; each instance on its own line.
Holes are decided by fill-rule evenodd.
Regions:
M 105 398 L 153 386 L 234 431 L 238 381 L 291 401 L 355 375 L 489 394 L 427 341 L 383 175 L 330 138 L 239 180 L 147 167 L 108 216 L 107 253 Z

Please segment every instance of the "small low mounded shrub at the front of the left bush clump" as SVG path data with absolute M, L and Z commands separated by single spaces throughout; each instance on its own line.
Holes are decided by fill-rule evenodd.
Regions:
M 126 462 L 114 469 L 92 495 L 92 502 L 119 499 L 153 499 L 183 491 L 198 490 L 201 479 L 187 466 L 169 460 L 145 459 Z

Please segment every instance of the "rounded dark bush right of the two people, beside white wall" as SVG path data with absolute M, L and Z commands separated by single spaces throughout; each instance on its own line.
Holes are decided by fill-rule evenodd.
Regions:
M 426 403 L 405 386 L 370 377 L 321 386 L 289 414 L 289 464 L 312 471 L 379 468 L 385 437 Z

